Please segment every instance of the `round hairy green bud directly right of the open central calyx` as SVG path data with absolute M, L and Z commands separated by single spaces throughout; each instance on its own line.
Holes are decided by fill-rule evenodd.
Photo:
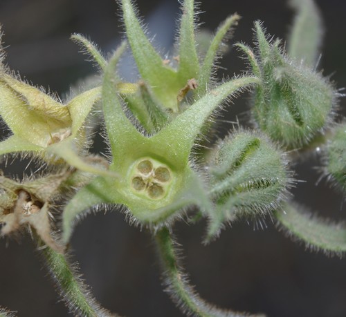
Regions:
M 280 206 L 291 184 L 284 155 L 260 133 L 238 131 L 219 143 L 210 162 L 215 215 L 209 236 L 239 215 L 264 215 Z

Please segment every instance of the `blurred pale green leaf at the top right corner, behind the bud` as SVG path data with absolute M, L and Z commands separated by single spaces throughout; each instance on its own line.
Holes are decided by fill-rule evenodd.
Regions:
M 323 36 L 320 10 L 313 0 L 291 0 L 289 3 L 297 13 L 287 41 L 287 52 L 298 62 L 315 68 Z

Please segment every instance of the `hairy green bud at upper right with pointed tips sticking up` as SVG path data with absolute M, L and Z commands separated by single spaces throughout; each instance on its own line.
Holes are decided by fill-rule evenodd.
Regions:
M 261 79 L 252 109 L 255 122 L 286 148 L 305 146 L 331 121 L 334 87 L 320 73 L 289 60 L 280 41 L 266 39 L 260 23 L 255 31 L 257 58 L 247 52 Z

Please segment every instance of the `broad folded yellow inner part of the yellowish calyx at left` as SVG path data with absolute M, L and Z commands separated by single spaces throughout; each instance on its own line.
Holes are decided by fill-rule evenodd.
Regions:
M 16 137 L 42 148 L 71 134 L 66 106 L 6 73 L 0 73 L 0 115 Z

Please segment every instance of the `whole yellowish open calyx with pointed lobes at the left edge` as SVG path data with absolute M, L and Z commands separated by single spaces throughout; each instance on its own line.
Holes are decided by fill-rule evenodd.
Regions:
M 0 75 L 0 90 L 0 115 L 13 133 L 0 142 L 0 154 L 29 152 L 51 164 L 61 164 L 59 158 L 63 158 L 84 171 L 97 172 L 78 154 L 86 142 L 86 118 L 100 101 L 100 87 L 81 93 L 66 105 L 7 74 Z

